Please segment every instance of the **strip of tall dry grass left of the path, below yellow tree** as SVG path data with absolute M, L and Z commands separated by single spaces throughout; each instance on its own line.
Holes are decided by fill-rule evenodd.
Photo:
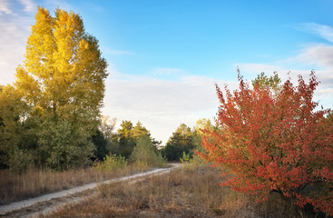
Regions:
M 29 169 L 15 174 L 0 171 L 0 205 L 27 198 L 73 188 L 86 183 L 102 182 L 148 170 L 144 165 L 129 165 L 124 169 L 99 170 L 95 168 L 53 172 L 44 169 Z

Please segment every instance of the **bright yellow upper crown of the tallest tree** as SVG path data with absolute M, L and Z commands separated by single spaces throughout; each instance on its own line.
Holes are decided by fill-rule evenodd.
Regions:
M 56 9 L 52 17 L 38 7 L 15 87 L 32 113 L 94 128 L 103 104 L 106 66 L 98 41 L 85 33 L 79 15 Z

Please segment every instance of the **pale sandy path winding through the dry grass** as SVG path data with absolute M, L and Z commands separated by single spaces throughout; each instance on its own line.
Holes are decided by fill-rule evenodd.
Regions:
M 103 183 L 116 183 L 122 181 L 137 181 L 142 179 L 142 176 L 148 176 L 152 174 L 169 173 L 172 169 L 180 167 L 179 164 L 173 163 L 171 168 L 159 168 L 145 173 L 137 173 L 121 178 L 115 178 L 104 181 L 102 183 L 89 183 L 83 186 L 75 187 L 56 193 L 49 193 L 39 197 L 27 199 L 24 201 L 10 203 L 0 206 L 0 216 L 7 217 L 36 217 L 39 214 L 52 213 L 60 206 L 64 206 L 68 203 L 78 203 L 85 198 L 91 196 L 93 189 Z M 90 190 L 90 191 L 89 191 Z

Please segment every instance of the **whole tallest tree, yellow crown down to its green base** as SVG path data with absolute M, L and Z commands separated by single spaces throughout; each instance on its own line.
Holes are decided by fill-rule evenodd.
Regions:
M 85 33 L 79 15 L 56 9 L 53 17 L 38 7 L 15 87 L 31 106 L 30 114 L 44 120 L 39 140 L 42 162 L 64 169 L 83 163 L 70 154 L 85 159 L 92 154 L 88 138 L 99 123 L 106 67 L 98 41 Z

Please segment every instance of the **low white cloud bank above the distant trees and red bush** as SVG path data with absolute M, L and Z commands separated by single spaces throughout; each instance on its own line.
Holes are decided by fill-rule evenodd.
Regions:
M 312 45 L 299 51 L 299 54 L 279 60 L 273 64 L 240 63 L 240 73 L 248 81 L 261 72 L 278 72 L 282 82 L 291 78 L 298 83 L 298 75 L 309 81 L 313 67 L 316 71 L 318 90 L 314 100 L 324 108 L 332 108 L 333 92 L 333 47 L 330 45 Z M 214 84 L 223 90 L 238 88 L 237 81 L 216 81 L 205 76 L 185 74 L 178 68 L 160 67 L 152 70 L 152 76 L 168 75 L 176 78 L 172 81 L 150 77 L 114 74 L 107 82 L 105 108 L 103 112 L 117 117 L 119 121 L 141 121 L 152 132 L 152 136 L 165 144 L 177 126 L 181 123 L 195 125 L 202 117 L 212 118 L 218 111 L 219 100 Z

